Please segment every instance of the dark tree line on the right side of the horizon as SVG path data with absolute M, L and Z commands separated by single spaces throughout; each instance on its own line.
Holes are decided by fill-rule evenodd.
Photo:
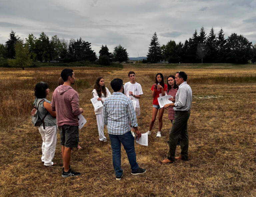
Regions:
M 207 36 L 204 27 L 197 30 L 184 43 L 168 41 L 160 45 L 156 32 L 153 34 L 147 59 L 143 62 L 157 63 L 248 63 L 256 62 L 256 44 L 249 42 L 243 35 L 232 33 L 227 39 L 221 30 L 215 34 L 213 27 Z

